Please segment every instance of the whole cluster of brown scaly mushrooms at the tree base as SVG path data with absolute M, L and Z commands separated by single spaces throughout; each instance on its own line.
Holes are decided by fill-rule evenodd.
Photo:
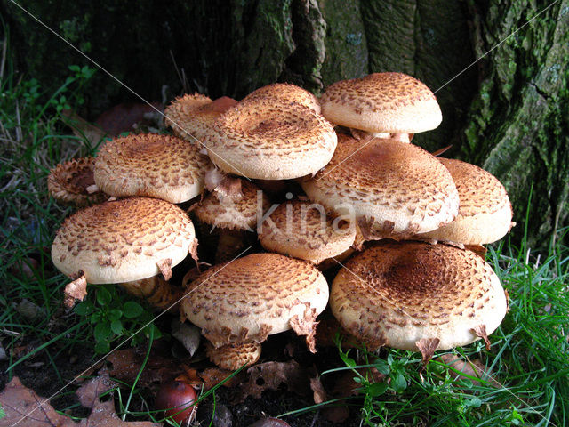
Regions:
M 410 143 L 442 120 L 419 80 L 376 73 L 319 100 L 288 84 L 242 101 L 187 94 L 164 114 L 176 136 L 116 138 L 52 171 L 53 197 L 94 204 L 53 242 L 54 264 L 74 279 L 68 300 L 86 283 L 122 283 L 162 309 L 180 302 L 228 369 L 255 363 L 268 335 L 287 330 L 316 351 L 328 302 L 370 349 L 428 360 L 489 345 L 507 297 L 480 250 L 509 232 L 511 205 L 490 173 Z M 202 262 L 169 284 L 188 254 L 197 262 L 197 238 Z

